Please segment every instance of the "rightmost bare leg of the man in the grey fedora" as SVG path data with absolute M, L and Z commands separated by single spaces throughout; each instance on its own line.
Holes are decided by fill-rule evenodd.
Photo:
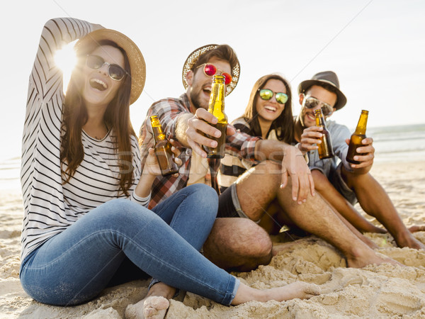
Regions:
M 353 174 L 344 168 L 341 172 L 348 187 L 356 193 L 363 210 L 387 228 L 399 247 L 425 249 L 425 245 L 406 228 L 390 197 L 372 175 Z

